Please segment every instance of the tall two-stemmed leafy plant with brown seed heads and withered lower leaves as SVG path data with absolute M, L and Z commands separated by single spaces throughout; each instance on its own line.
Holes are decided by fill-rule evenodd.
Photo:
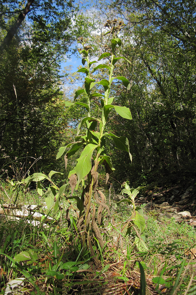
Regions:
M 110 136 L 113 138 L 116 146 L 121 149 L 125 150 L 129 153 L 130 159 L 131 154 L 129 151 L 129 142 L 126 137 L 118 137 L 112 133 L 104 132 L 105 125 L 108 119 L 108 115 L 110 113 L 110 109 L 114 108 L 115 111 L 125 119 L 132 119 L 130 110 L 127 107 L 123 106 L 116 106 L 112 105 L 113 97 L 110 97 L 110 90 L 111 85 L 114 79 L 118 79 L 123 82 L 123 85 L 130 88 L 130 83 L 127 78 L 123 76 L 117 76 L 113 77 L 113 71 L 114 71 L 114 64 L 113 61 L 115 58 L 115 47 L 118 45 L 121 45 L 121 40 L 115 36 L 115 34 L 118 33 L 119 27 L 121 26 L 116 25 L 116 20 L 113 22 L 110 30 L 113 35 L 113 39 L 111 40 L 111 47 L 112 52 L 110 53 L 111 56 L 111 62 L 110 65 L 98 65 L 94 70 L 90 70 L 92 63 L 90 62 L 89 54 L 91 51 L 91 48 L 86 46 L 83 42 L 83 38 L 79 38 L 78 43 L 80 43 L 83 46 L 83 49 L 80 50 L 80 54 L 83 55 L 82 63 L 85 65 L 87 63 L 87 67 L 81 68 L 78 70 L 78 73 L 85 73 L 86 78 L 84 82 L 84 88 L 77 90 L 76 94 L 74 96 L 74 103 L 72 102 L 66 102 L 66 106 L 73 106 L 73 105 L 80 105 L 83 106 L 86 111 L 88 112 L 88 117 L 84 117 L 80 124 L 78 125 L 78 132 L 77 136 L 75 138 L 74 142 L 71 142 L 70 144 L 61 147 L 59 149 L 59 152 L 57 154 L 57 158 L 60 158 L 63 153 L 66 151 L 65 155 L 65 162 L 67 165 L 67 159 L 74 155 L 79 149 L 82 149 L 80 156 L 77 159 L 77 164 L 75 165 L 75 168 L 69 172 L 68 178 L 69 178 L 69 184 L 71 186 L 71 198 L 77 200 L 77 207 L 80 209 L 80 226 L 77 227 L 74 220 L 70 219 L 70 223 L 72 226 L 75 227 L 75 230 L 81 235 L 81 242 L 83 251 L 85 251 L 86 246 L 89 247 L 89 238 L 87 232 L 90 230 L 90 214 L 91 214 L 91 227 L 95 234 L 95 240 L 97 242 L 98 248 L 97 250 L 100 252 L 101 249 L 105 247 L 103 238 L 100 235 L 99 228 L 95 221 L 95 214 L 96 214 L 96 208 L 95 204 L 93 204 L 93 195 L 95 197 L 96 203 L 99 204 L 98 208 L 98 222 L 100 224 L 101 222 L 101 216 L 103 208 L 105 207 L 110 212 L 109 207 L 106 205 L 106 199 L 104 194 L 98 190 L 98 168 L 100 165 L 105 166 L 105 172 L 106 172 L 106 182 L 108 181 L 109 174 L 114 170 L 111 158 L 106 155 L 105 150 L 105 138 Z M 108 54 L 106 55 L 108 56 Z M 105 55 L 102 55 L 100 59 L 105 57 Z M 108 70 L 108 79 L 101 79 L 100 81 L 96 81 L 92 77 L 92 73 L 96 70 L 106 68 Z M 104 89 L 104 95 L 98 94 L 97 92 L 94 92 L 92 88 L 99 84 L 103 86 Z M 101 119 L 97 117 L 91 116 L 91 109 L 93 108 L 91 99 L 92 97 L 103 97 L 101 98 L 101 105 L 102 105 L 102 116 Z M 79 99 L 78 99 L 79 97 Z M 81 101 L 82 99 L 85 99 Z M 77 99 L 77 101 L 76 101 Z M 84 102 L 85 101 L 85 102 Z M 69 150 L 67 151 L 67 149 Z M 55 173 L 55 171 L 51 171 L 49 173 L 49 178 L 41 173 L 33 176 L 29 176 L 27 178 L 27 183 L 30 181 L 41 181 L 43 179 L 48 179 L 51 181 L 51 176 Z M 87 184 L 85 184 L 85 178 L 87 178 Z M 74 189 L 78 189 L 79 184 L 82 181 L 82 195 L 81 199 L 78 196 L 72 196 Z M 52 181 L 51 181 L 52 183 Z M 86 187 L 85 187 L 86 186 Z M 60 193 L 61 191 L 61 193 Z M 53 184 L 53 186 L 49 186 L 48 190 L 45 193 L 45 201 L 47 204 L 48 209 L 51 209 L 51 207 L 54 204 L 55 212 L 58 210 L 59 205 L 59 199 L 61 195 L 64 192 L 64 186 L 60 188 L 58 193 L 58 188 Z M 58 198 L 56 196 L 58 195 Z M 70 199 L 67 198 L 67 199 Z M 92 207 L 92 208 L 91 208 Z M 84 210 L 84 211 L 83 211 Z M 82 216 L 83 215 L 83 216 Z M 81 219 L 83 217 L 83 220 Z M 138 216 L 137 216 L 138 217 Z M 138 218 L 135 218 L 135 222 L 138 222 Z M 83 223 L 81 225 L 81 223 Z M 141 221 L 139 221 L 139 224 Z M 81 228 L 83 228 L 83 232 L 81 231 Z M 141 231 L 141 230 L 140 230 Z M 94 250 L 92 246 L 90 245 L 91 255 L 93 255 Z

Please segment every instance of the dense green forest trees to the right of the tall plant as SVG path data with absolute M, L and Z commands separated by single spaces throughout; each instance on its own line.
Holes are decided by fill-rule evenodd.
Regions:
M 108 118 L 110 132 L 128 138 L 134 159 L 129 165 L 125 153 L 114 150 L 114 178 L 135 187 L 195 178 L 195 2 L 118 0 L 110 8 L 128 21 L 118 47 L 125 58 L 118 60 L 115 76 L 125 75 L 131 91 L 116 82 L 115 103 L 131 109 L 134 118 L 131 126 L 113 110 Z M 108 48 L 108 35 L 94 42 Z

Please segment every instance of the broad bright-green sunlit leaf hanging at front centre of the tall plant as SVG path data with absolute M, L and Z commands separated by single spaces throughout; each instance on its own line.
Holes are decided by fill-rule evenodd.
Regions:
M 75 171 L 78 176 L 78 183 L 76 189 L 78 188 L 81 180 L 91 171 L 91 157 L 93 151 L 98 147 L 98 145 L 88 144 L 82 151 L 80 158 L 77 159 L 78 163 L 76 164 Z

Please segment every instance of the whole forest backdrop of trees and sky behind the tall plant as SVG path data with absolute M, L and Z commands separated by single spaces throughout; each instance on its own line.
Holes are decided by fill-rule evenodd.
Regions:
M 115 75 L 128 78 L 131 88 L 125 90 L 117 82 L 113 93 L 115 104 L 129 107 L 133 120 L 113 112 L 107 128 L 128 137 L 133 163 L 126 152 L 107 143 L 115 167 L 110 182 L 116 188 L 126 180 L 162 186 L 194 178 L 195 1 L 32 1 L 9 47 L 3 49 L 9 28 L 25 5 L 1 1 L 1 177 L 22 178 L 33 169 L 65 173 L 56 154 L 73 141 L 85 110 L 64 105 L 73 99 L 82 78 L 67 68 L 62 72 L 62 62 L 76 54 L 78 37 L 87 39 L 92 58 L 103 53 L 107 47 L 103 24 L 119 18 L 125 27 L 118 55 L 126 59 L 119 60 Z M 100 100 L 94 99 L 94 104 L 99 109 Z M 74 161 L 73 157 L 67 173 Z

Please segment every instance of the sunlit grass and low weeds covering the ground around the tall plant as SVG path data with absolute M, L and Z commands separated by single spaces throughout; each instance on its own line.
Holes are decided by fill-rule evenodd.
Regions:
M 44 201 L 36 191 L 8 182 L 1 182 L 1 199 L 1 204 L 41 205 Z M 117 208 L 113 204 L 110 217 L 105 216 L 100 227 L 105 248 L 92 259 L 81 248 L 73 210 L 68 226 L 68 206 L 64 200 L 61 212 L 48 213 L 53 222 L 43 219 L 36 226 L 28 223 L 28 218 L 9 219 L 7 215 L 1 219 L 0 294 L 5 293 L 9 280 L 21 277 L 25 283 L 17 294 L 195 294 L 195 256 L 190 249 L 196 235 L 186 221 L 160 222 L 155 212 L 146 212 L 148 251 L 142 252 L 135 246 L 135 231 L 131 229 L 129 235 L 126 229 L 122 231 L 130 218 L 128 205 Z M 46 213 L 44 208 L 39 210 Z M 92 240 L 96 250 L 98 242 L 95 237 Z

